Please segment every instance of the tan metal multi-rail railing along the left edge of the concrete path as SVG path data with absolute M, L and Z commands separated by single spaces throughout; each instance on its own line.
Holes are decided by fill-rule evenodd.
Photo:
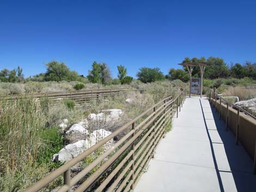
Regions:
M 57 191 L 70 191 L 71 187 L 78 182 L 80 182 L 80 185 L 75 191 L 88 191 L 92 187 L 98 192 L 133 191 L 143 170 L 153 156 L 159 140 L 163 137 L 166 126 L 172 121 L 175 104 L 177 105 L 176 113 L 178 116 L 178 107 L 182 106 L 185 98 L 185 90 L 181 91 L 174 100 L 172 100 L 172 96 L 164 98 L 79 156 L 46 175 L 25 191 L 39 191 L 60 175 L 64 176 L 64 181 Z M 128 131 L 123 138 L 71 178 L 72 166 L 86 159 L 90 154 L 123 131 Z M 96 166 L 97 169 L 89 174 Z M 85 181 L 81 182 L 81 179 L 84 178 L 86 178 Z M 97 182 L 99 179 L 100 182 Z

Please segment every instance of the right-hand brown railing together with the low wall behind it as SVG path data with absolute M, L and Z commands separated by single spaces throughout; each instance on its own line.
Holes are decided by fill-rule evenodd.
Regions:
M 223 119 L 226 124 L 226 131 L 228 131 L 228 128 L 230 128 L 230 130 L 235 134 L 235 144 L 238 145 L 239 141 L 242 142 L 249 156 L 253 158 L 253 174 L 256 175 L 256 117 L 247 112 L 245 109 L 228 102 L 225 100 L 225 98 L 218 95 L 216 88 L 214 88 L 214 90 L 207 89 L 206 96 L 212 103 L 212 106 L 215 106 L 215 113 L 218 109 L 220 119 L 224 117 Z M 219 100 L 219 102 L 217 102 L 217 100 Z M 248 116 L 249 119 L 242 117 L 240 112 L 243 112 L 243 114 Z M 241 120 L 243 120 L 243 123 Z M 242 137 L 240 139 L 241 134 Z

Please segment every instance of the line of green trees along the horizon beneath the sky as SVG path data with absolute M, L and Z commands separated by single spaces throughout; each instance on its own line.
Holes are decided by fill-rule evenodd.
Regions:
M 228 65 L 224 62 L 222 58 L 218 57 L 205 57 L 201 58 L 184 58 L 182 63 L 190 62 L 208 62 L 212 65 L 205 67 L 204 78 L 206 79 L 216 79 L 216 78 L 244 78 L 249 77 L 256 79 L 256 63 L 251 63 L 247 61 L 245 64 L 240 63 L 231 63 Z M 51 61 L 46 64 L 46 72 L 39 73 L 33 77 L 24 78 L 23 70 L 20 66 L 17 69 L 8 70 L 3 69 L 0 71 L 0 82 L 27 82 L 37 81 L 37 82 L 47 82 L 47 81 L 56 81 L 60 82 L 65 81 L 79 81 L 82 83 L 92 82 L 92 83 L 101 83 L 103 85 L 107 84 L 129 84 L 132 82 L 133 78 L 127 76 L 127 69 L 123 65 L 118 65 L 118 78 L 112 78 L 111 71 L 109 66 L 102 62 L 97 63 L 96 61 L 92 64 L 92 69 L 88 71 L 88 76 L 84 77 L 79 75 L 76 71 L 71 71 L 69 67 L 64 62 Z M 180 79 L 183 82 L 188 82 L 190 79 L 186 67 L 183 69 L 170 69 L 169 73 L 164 76 L 163 72 L 158 67 L 141 67 L 136 74 L 138 80 L 141 80 L 143 83 L 155 82 L 156 80 L 162 80 L 164 78 L 174 80 Z M 195 66 L 192 71 L 193 77 L 200 77 L 200 69 L 198 66 Z

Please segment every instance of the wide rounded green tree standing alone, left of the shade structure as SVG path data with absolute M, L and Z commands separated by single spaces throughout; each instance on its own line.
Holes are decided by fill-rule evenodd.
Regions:
M 137 72 L 137 77 L 143 83 L 151 83 L 156 80 L 164 79 L 163 73 L 158 67 L 153 69 L 149 67 L 142 67 L 139 69 L 139 72 Z

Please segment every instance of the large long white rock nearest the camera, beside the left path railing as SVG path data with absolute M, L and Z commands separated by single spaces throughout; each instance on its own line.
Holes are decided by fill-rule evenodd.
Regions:
M 77 157 L 87 148 L 95 145 L 100 140 L 106 138 L 110 135 L 111 132 L 106 131 L 105 129 L 99 129 L 94 131 L 90 136 L 85 140 L 76 141 L 74 144 L 66 145 L 62 150 L 57 154 L 53 154 L 51 161 L 60 161 L 62 163 L 71 160 L 74 157 Z M 113 139 L 109 140 L 105 145 L 103 145 L 103 151 L 106 151 L 109 147 L 113 145 Z

